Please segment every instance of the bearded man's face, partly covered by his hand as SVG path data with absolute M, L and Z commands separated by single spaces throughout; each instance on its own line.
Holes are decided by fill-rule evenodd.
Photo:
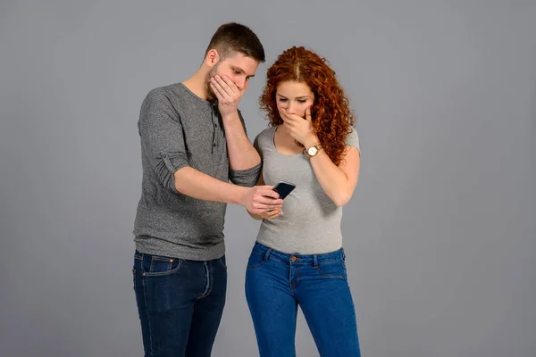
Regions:
M 216 74 L 220 77 L 227 76 L 235 86 L 239 87 L 244 94 L 247 90 L 249 79 L 255 76 L 259 62 L 245 54 L 235 52 L 214 64 L 206 76 L 206 96 L 209 101 L 215 101 L 216 95 L 210 87 L 210 79 Z

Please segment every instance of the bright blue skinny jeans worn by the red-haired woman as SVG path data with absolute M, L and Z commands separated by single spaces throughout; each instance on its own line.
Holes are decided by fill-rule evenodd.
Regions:
M 261 357 L 296 355 L 298 305 L 321 356 L 360 356 L 342 248 L 297 255 L 255 243 L 247 262 L 246 299 Z

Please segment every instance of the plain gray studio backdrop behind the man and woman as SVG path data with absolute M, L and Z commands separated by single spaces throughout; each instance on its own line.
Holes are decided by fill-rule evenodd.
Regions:
M 184 3 L 184 4 L 182 4 Z M 535 1 L 0 4 L 0 355 L 140 356 L 131 282 L 148 90 L 188 78 L 222 22 L 268 62 L 331 61 L 363 149 L 343 231 L 365 357 L 532 357 Z M 255 356 L 243 292 L 258 222 L 230 206 L 214 356 Z M 298 356 L 316 355 L 300 316 Z

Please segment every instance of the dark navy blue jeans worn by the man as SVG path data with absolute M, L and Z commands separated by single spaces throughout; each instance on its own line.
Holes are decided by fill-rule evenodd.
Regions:
M 145 356 L 210 356 L 225 304 L 225 257 L 195 262 L 136 251 L 133 275 Z

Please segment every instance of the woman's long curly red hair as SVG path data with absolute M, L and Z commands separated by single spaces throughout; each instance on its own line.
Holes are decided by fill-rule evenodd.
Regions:
M 281 82 L 304 82 L 314 93 L 311 118 L 314 134 L 322 148 L 336 165 L 344 157 L 346 139 L 355 117 L 348 98 L 339 86 L 335 71 L 329 62 L 304 47 L 294 46 L 284 51 L 266 73 L 266 86 L 259 98 L 261 109 L 267 113 L 270 125 L 281 125 L 283 120 L 277 109 L 275 93 Z M 297 145 L 301 145 L 297 143 Z

